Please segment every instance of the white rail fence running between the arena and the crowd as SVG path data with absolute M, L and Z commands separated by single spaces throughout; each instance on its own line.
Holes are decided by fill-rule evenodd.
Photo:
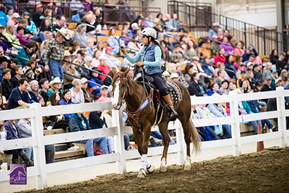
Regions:
M 232 125 L 231 139 L 202 142 L 202 149 L 231 146 L 233 147 L 233 155 L 239 156 L 239 154 L 241 154 L 241 144 L 254 143 L 275 138 L 279 138 L 280 147 L 286 147 L 287 137 L 289 136 L 289 130 L 286 130 L 286 116 L 289 116 L 289 110 L 285 109 L 284 96 L 288 95 L 289 91 L 284 91 L 283 87 L 279 87 L 277 88 L 277 91 L 268 91 L 263 93 L 237 95 L 236 91 L 233 91 L 230 93 L 230 95 L 192 98 L 192 104 L 230 102 L 230 117 L 194 120 L 194 124 L 196 125 L 196 127 L 225 124 Z M 264 98 L 277 98 L 277 111 L 239 116 L 238 101 L 257 100 Z M 99 165 L 103 163 L 115 162 L 116 173 L 124 174 L 125 172 L 127 172 L 126 159 L 138 158 L 140 157 L 140 155 L 138 154 L 137 150 L 124 150 L 123 134 L 131 134 L 132 130 L 130 127 L 122 126 L 122 117 L 120 111 L 113 110 L 113 127 L 111 128 L 93 129 L 89 131 L 80 131 L 69 134 L 44 136 L 42 127 L 42 116 L 52 116 L 55 114 L 77 113 L 85 111 L 100 111 L 105 109 L 112 109 L 111 102 L 72 104 L 57 107 L 41 107 L 40 104 L 31 104 L 30 109 L 0 111 L 1 120 L 11 120 L 19 118 L 31 118 L 32 120 L 32 138 L 1 141 L 0 150 L 33 147 L 35 166 L 28 167 L 27 174 L 28 176 L 35 176 L 37 190 L 47 187 L 48 173 L 59 172 L 66 169 L 74 169 L 78 167 L 85 167 L 88 165 Z M 260 134 L 257 136 L 254 135 L 241 137 L 239 129 L 240 122 L 262 120 L 266 118 L 278 118 L 279 131 L 269 134 Z M 172 122 L 170 122 L 169 129 L 176 129 L 177 138 L 177 144 L 170 145 L 169 153 L 177 153 L 178 164 L 183 165 L 186 158 L 186 145 L 183 136 L 183 129 L 179 121 L 176 121 L 174 125 L 172 124 Z M 46 165 L 44 145 L 72 142 L 76 140 L 84 140 L 90 138 L 99 138 L 104 136 L 114 136 L 115 154 L 106 154 L 102 156 L 67 160 L 59 163 L 50 163 Z M 160 154 L 162 154 L 162 147 L 149 148 L 149 156 Z M 8 180 L 8 171 L 0 172 L 0 181 Z

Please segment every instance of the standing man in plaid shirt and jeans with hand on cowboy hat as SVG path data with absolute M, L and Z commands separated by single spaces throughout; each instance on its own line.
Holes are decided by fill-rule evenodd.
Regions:
M 68 41 L 64 41 L 64 38 Z M 73 39 L 71 39 L 71 35 L 68 35 L 67 30 L 64 28 L 57 29 L 57 35 L 55 39 L 49 42 L 47 53 L 44 55 L 44 69 L 49 68 L 53 73 L 53 77 L 60 77 L 62 82 L 64 80 L 64 73 L 61 62 L 64 58 L 64 46 L 72 45 Z

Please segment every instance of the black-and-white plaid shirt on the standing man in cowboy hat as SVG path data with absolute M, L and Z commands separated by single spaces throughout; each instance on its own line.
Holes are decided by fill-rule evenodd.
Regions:
M 64 58 L 64 46 L 73 46 L 73 39 L 64 40 L 62 43 L 59 43 L 56 39 L 50 41 L 44 55 L 44 63 L 48 65 L 49 59 L 62 62 Z

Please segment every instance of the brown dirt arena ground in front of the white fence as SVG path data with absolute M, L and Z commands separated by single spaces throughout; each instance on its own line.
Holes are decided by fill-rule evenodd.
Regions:
M 289 147 L 272 147 L 239 157 L 225 156 L 192 163 L 191 171 L 170 165 L 146 178 L 136 172 L 26 192 L 289 192 Z M 71 176 L 73 178 L 73 176 Z

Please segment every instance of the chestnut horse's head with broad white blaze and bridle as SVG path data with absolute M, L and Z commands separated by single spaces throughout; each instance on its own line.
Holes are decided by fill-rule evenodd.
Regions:
M 128 95 L 127 87 L 128 87 L 128 80 L 129 76 L 129 68 L 127 71 L 117 72 L 115 68 L 113 68 L 113 81 L 111 85 L 113 85 L 113 108 L 118 110 L 122 106 L 122 100 L 126 98 Z

